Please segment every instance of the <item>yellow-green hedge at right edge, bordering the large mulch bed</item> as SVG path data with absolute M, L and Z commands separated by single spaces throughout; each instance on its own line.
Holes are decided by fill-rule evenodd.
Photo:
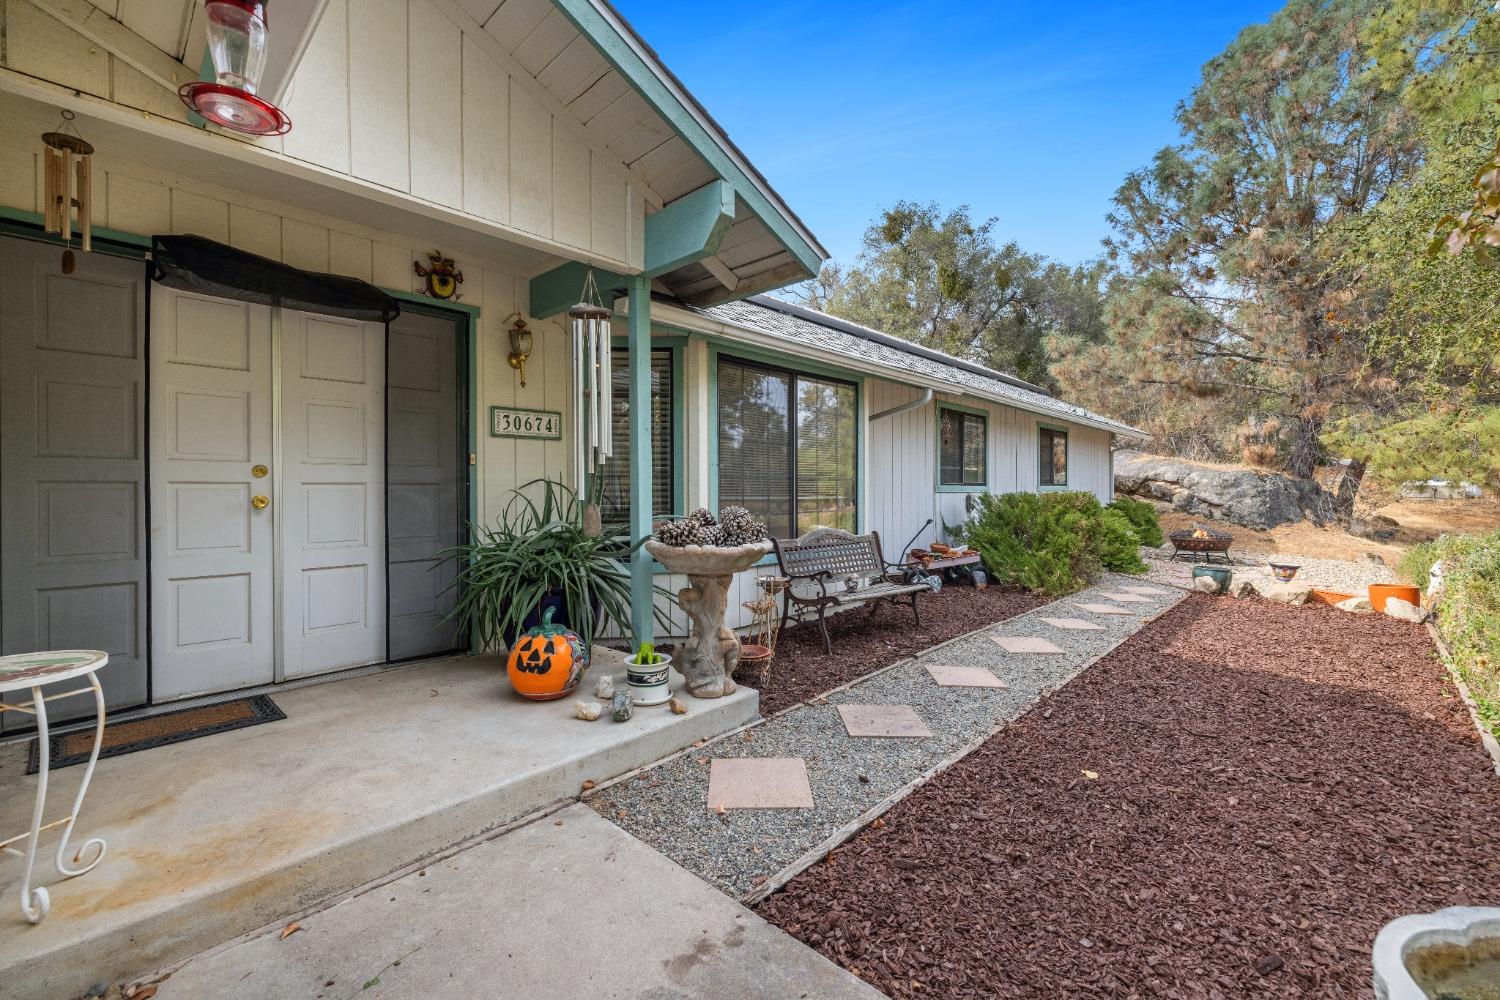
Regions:
M 1479 717 L 1500 736 L 1500 531 L 1443 535 L 1431 544 L 1443 561 L 1437 630 L 1479 705 Z

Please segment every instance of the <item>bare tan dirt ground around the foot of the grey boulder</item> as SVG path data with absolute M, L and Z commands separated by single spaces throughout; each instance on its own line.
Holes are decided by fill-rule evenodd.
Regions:
M 1430 541 L 1442 534 L 1484 534 L 1500 529 L 1500 498 L 1456 501 L 1396 501 L 1377 507 L 1372 513 L 1394 517 L 1401 531 L 1390 543 L 1356 538 L 1340 528 L 1318 528 L 1306 522 L 1281 525 L 1270 531 L 1252 531 L 1222 520 L 1203 520 L 1179 511 L 1161 513 L 1164 532 L 1191 529 L 1208 525 L 1215 531 L 1234 535 L 1234 549 L 1240 552 L 1314 555 L 1324 559 L 1359 559 L 1366 553 L 1378 555 L 1395 567 L 1407 549 L 1419 541 Z

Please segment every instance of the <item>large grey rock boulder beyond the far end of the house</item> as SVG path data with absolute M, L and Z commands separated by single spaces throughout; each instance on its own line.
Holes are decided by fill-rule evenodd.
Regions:
M 1278 472 L 1216 469 L 1138 451 L 1114 456 L 1114 489 L 1257 531 L 1300 520 L 1316 525 L 1334 520 L 1334 498 L 1317 483 Z

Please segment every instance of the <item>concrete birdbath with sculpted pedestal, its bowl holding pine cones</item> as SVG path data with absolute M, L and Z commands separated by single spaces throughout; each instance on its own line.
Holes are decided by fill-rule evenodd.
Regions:
M 740 664 L 740 639 L 724 625 L 729 586 L 735 573 L 748 570 L 771 552 L 770 541 L 747 546 L 664 546 L 646 541 L 646 552 L 668 573 L 681 573 L 687 586 L 676 594 L 678 606 L 687 613 L 692 628 L 687 642 L 672 657 L 687 681 L 687 690 L 700 699 L 717 699 L 735 693 L 729 675 Z

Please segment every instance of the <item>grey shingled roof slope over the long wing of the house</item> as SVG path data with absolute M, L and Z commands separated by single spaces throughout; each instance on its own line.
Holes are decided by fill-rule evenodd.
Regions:
M 754 295 L 744 301 L 723 303 L 694 312 L 726 325 L 790 343 L 816 346 L 831 358 L 856 358 L 890 369 L 892 381 L 902 381 L 902 375 L 918 376 L 926 382 L 936 381 L 951 385 L 954 391 L 962 394 L 978 396 L 1034 414 L 1058 417 L 1131 438 L 1150 436 L 1130 424 L 1064 402 L 1044 388 L 1005 372 L 996 372 L 816 309 L 794 306 L 771 295 Z

